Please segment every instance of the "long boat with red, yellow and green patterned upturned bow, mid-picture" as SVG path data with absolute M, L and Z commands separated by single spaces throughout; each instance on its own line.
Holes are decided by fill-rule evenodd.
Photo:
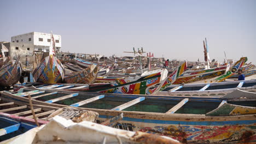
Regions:
M 112 83 L 97 83 L 91 85 L 40 85 L 33 83 L 27 85 L 16 85 L 14 89 L 26 86 L 36 86 L 38 89 L 61 89 L 61 91 L 81 91 L 81 92 L 100 92 L 100 93 L 129 93 L 129 94 L 153 94 L 161 89 L 170 86 L 187 68 L 187 62 L 181 63 L 176 70 L 168 75 L 166 69 L 159 69 L 144 72 L 140 76 L 125 77 L 124 79 L 116 79 Z M 38 83 L 37 83 L 38 84 Z

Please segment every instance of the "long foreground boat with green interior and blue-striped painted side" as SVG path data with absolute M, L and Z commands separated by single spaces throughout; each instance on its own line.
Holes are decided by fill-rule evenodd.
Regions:
M 50 92 L 50 91 L 49 91 Z M 68 93 L 66 93 L 68 94 Z M 27 101 L 25 97 L 18 97 L 13 94 L 3 93 L 3 97 L 10 97 L 20 101 Z M 55 104 L 47 102 L 48 99 L 56 98 L 56 96 L 50 96 L 43 101 L 33 100 L 33 104 L 54 106 L 54 107 L 66 107 L 66 105 L 75 106 L 74 103 L 83 101 L 84 99 L 90 99 L 89 94 L 80 95 L 66 100 L 60 100 Z M 118 94 L 117 94 L 118 95 Z M 95 95 L 94 95 L 95 96 Z M 107 98 L 108 96 L 105 95 Z M 135 99 L 135 95 L 121 95 L 119 98 Z M 61 98 L 60 98 L 61 99 Z M 225 116 L 206 116 L 203 113 L 212 111 L 218 107 L 218 104 L 224 99 L 219 98 L 204 98 L 195 99 L 191 97 L 191 104 L 187 103 L 182 106 L 177 113 L 162 113 L 160 111 L 166 111 L 173 106 L 171 101 L 172 97 L 155 97 L 153 95 L 147 95 L 145 103 L 141 105 L 133 104 L 132 107 L 127 107 L 125 110 L 109 110 L 114 105 L 122 104 L 121 99 L 110 94 L 108 99 L 98 101 L 98 103 L 86 104 L 86 106 L 80 106 L 81 109 L 92 110 L 100 114 L 98 122 L 102 122 L 108 118 L 124 113 L 123 120 L 120 121 L 115 128 L 127 129 L 131 131 L 143 131 L 147 133 L 153 133 L 158 135 L 170 136 L 173 139 L 181 141 L 183 143 L 253 143 L 256 142 L 255 133 L 255 113 L 248 115 L 225 115 Z M 182 97 L 180 97 L 182 99 Z M 106 100 L 109 100 L 108 102 Z M 128 100 L 128 101 L 130 101 Z M 193 101 L 197 101 L 194 103 Z M 118 102 L 119 101 L 119 102 Z M 150 102 L 151 101 L 151 102 Z M 190 100 L 189 100 L 190 101 Z M 204 101 L 204 103 L 202 103 Z M 227 100 L 229 103 L 231 100 Z M 179 100 L 177 101 L 179 102 Z M 142 103 L 142 102 L 140 102 Z M 150 105 L 153 104 L 153 105 Z M 157 104 L 156 104 L 157 103 Z M 207 103 L 207 104 L 206 104 Z M 255 106 L 254 101 L 246 101 L 243 103 L 240 100 L 234 101 L 234 103 Z M 175 103 L 174 105 L 176 105 Z M 171 105 L 171 106 L 170 106 Z M 179 105 L 179 103 L 177 104 Z M 190 106 L 193 106 L 193 110 Z M 102 109 L 105 107 L 108 109 Z M 197 108 L 196 108 L 197 107 Z M 203 107 L 203 108 L 202 108 Z M 211 108 L 212 107 L 212 108 Z M 195 110 L 194 110 L 195 109 Z M 132 111 L 133 110 L 133 111 Z M 140 110 L 140 111 L 136 111 Z M 183 112 L 182 112 L 183 111 Z M 197 112 L 196 112 L 197 111 Z M 198 113 L 200 114 L 193 114 Z M 203 112 L 204 111 L 204 112 Z M 202 113 L 203 112 L 203 113 Z M 190 113 L 190 114 L 189 114 Z

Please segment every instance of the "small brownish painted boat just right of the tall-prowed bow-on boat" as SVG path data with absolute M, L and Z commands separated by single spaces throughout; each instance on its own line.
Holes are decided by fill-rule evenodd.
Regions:
M 64 81 L 66 83 L 94 83 L 98 73 L 98 65 L 90 65 L 82 71 L 73 72 L 72 74 L 65 76 Z

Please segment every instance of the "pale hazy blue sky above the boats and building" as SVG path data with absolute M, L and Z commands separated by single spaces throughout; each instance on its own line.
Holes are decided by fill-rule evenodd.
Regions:
M 256 64 L 256 1 L 1 1 L 0 41 L 53 31 L 62 51 L 203 61 L 203 42 L 219 61 L 247 56 Z

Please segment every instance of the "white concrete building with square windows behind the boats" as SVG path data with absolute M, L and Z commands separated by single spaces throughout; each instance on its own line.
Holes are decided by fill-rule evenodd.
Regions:
M 56 52 L 60 52 L 61 35 L 54 34 Z M 21 62 L 26 56 L 33 58 L 33 51 L 49 52 L 51 34 L 31 32 L 11 37 L 9 56 L 13 59 L 21 55 Z M 30 58 L 30 59 L 31 59 Z

